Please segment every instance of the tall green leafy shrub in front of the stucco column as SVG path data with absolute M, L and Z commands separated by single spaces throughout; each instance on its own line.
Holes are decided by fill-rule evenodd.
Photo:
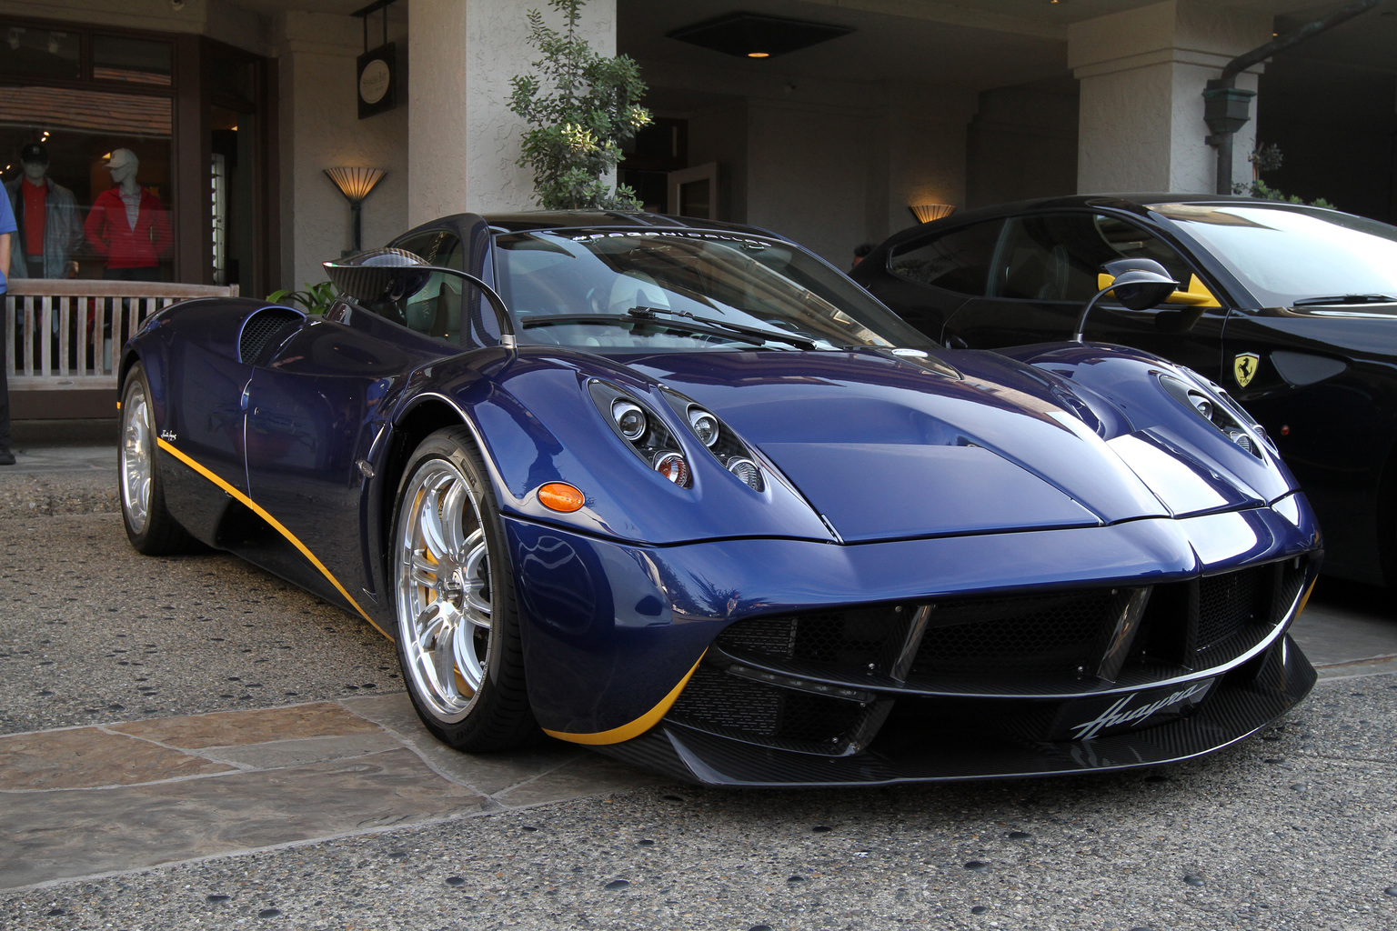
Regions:
M 620 144 L 650 123 L 636 103 L 645 94 L 640 67 L 627 56 L 592 52 L 577 35 L 587 0 L 548 0 L 563 13 L 566 28 L 543 24 L 529 10 L 529 45 L 543 56 L 534 63 L 542 75 L 515 75 L 510 109 L 534 128 L 524 134 L 520 165 L 534 169 L 534 193 L 546 209 L 640 209 L 636 193 L 615 190 L 602 179 L 620 162 Z

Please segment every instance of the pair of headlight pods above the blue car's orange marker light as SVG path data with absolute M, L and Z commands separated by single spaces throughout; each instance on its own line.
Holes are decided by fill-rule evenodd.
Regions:
M 650 468 L 675 484 L 687 489 L 692 479 L 689 461 L 678 438 L 652 410 L 619 387 L 601 380 L 588 382 L 588 391 L 598 409 L 616 434 Z M 683 395 L 665 391 L 665 399 L 675 413 L 689 424 L 700 444 L 739 482 L 761 491 L 761 468 L 752 454 L 711 412 Z

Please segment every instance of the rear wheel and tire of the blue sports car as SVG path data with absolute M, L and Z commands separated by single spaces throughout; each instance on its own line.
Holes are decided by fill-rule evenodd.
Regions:
M 122 387 L 122 438 L 116 451 L 122 522 L 138 553 L 187 553 L 196 549 L 196 543 L 165 507 L 159 455 L 151 384 L 145 378 L 145 367 L 136 363 L 126 373 Z

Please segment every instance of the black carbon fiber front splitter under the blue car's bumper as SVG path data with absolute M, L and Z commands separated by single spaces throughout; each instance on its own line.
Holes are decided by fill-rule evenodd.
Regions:
M 1055 776 L 1171 764 L 1221 750 L 1261 730 L 1298 703 L 1317 674 L 1289 638 L 1228 673 L 1192 713 L 1094 740 L 1032 741 L 1004 731 L 928 729 L 880 734 L 845 757 L 793 752 L 662 720 L 601 752 L 686 782 L 711 786 L 886 786 L 956 779 Z M 887 729 L 884 729 L 887 730 Z

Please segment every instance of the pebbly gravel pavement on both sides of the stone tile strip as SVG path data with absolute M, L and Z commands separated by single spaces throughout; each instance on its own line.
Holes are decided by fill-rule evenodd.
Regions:
M 0 733 L 401 688 L 363 621 L 63 509 L 0 511 Z M 1150 772 L 637 789 L 0 893 L 25 931 L 901 925 L 1397 927 L 1397 677 L 1320 683 L 1261 738 Z

